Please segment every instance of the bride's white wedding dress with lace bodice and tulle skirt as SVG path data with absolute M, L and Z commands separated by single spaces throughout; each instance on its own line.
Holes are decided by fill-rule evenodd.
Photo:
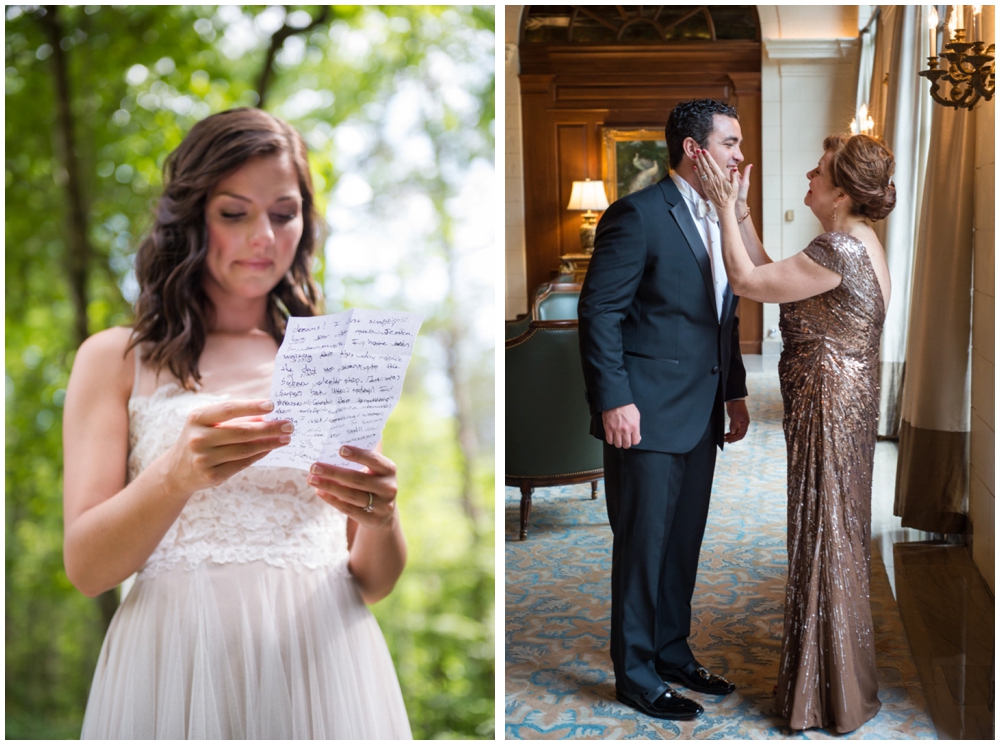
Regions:
M 189 411 L 230 397 L 175 383 L 136 395 L 141 375 L 130 479 Z M 382 632 L 347 569 L 346 518 L 306 478 L 250 467 L 191 497 L 111 622 L 81 738 L 411 737 Z

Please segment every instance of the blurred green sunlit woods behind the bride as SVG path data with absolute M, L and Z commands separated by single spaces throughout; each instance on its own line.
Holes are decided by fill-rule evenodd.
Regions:
M 74 738 L 114 593 L 62 564 L 62 403 L 131 321 L 166 155 L 261 105 L 309 143 L 327 310 L 424 314 L 383 443 L 410 559 L 373 610 L 418 738 L 494 736 L 494 10 L 7 6 L 6 736 Z

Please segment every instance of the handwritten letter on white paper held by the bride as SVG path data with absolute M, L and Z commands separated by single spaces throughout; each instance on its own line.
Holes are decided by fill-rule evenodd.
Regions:
M 370 450 L 399 401 L 420 316 L 355 308 L 289 318 L 274 361 L 266 419 L 288 419 L 292 441 L 258 466 L 308 470 L 316 461 L 359 469 L 341 445 Z

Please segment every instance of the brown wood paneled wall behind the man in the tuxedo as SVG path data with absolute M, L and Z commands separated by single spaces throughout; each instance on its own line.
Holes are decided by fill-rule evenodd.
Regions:
M 524 44 L 521 110 L 527 288 L 552 277 L 559 257 L 580 251 L 580 213 L 569 212 L 573 181 L 601 178 L 601 129 L 662 129 L 670 110 L 692 98 L 736 106 L 743 154 L 761 162 L 761 45 L 692 41 L 663 46 L 541 46 Z M 759 166 L 750 209 L 761 222 Z M 740 301 L 745 353 L 760 353 L 759 303 Z

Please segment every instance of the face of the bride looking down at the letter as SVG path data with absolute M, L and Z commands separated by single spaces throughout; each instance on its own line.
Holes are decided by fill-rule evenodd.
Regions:
M 291 158 L 254 158 L 220 180 L 205 222 L 205 291 L 212 301 L 265 297 L 291 268 L 302 237 L 302 194 Z

